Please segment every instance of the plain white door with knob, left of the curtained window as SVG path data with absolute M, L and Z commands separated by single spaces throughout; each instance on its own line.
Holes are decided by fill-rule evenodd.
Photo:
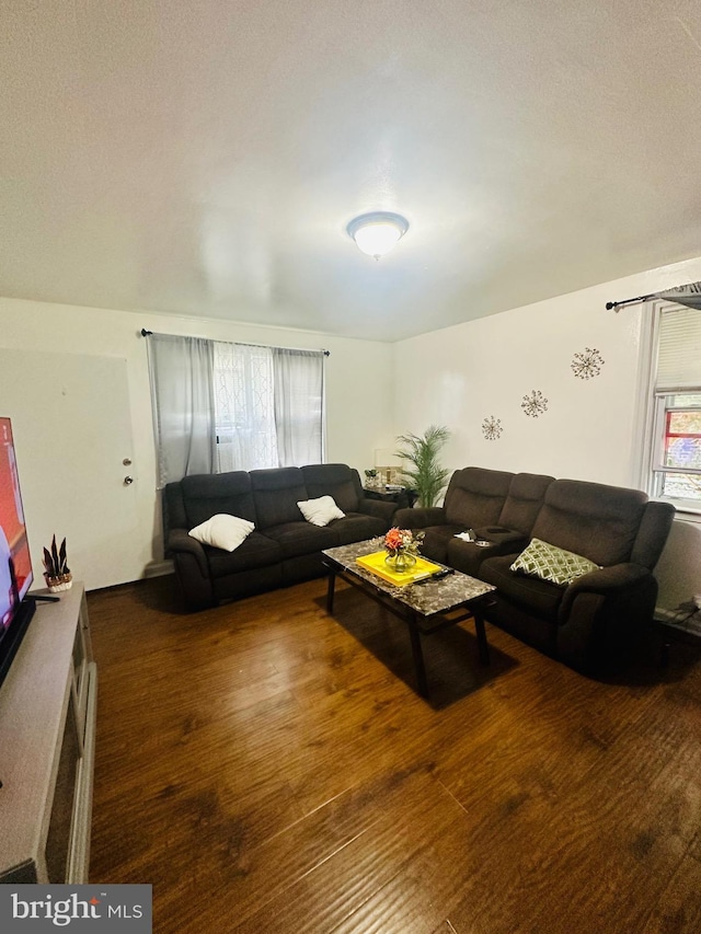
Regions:
M 54 534 L 88 589 L 140 577 L 126 360 L 0 350 L 0 415 L 12 419 L 33 589 Z

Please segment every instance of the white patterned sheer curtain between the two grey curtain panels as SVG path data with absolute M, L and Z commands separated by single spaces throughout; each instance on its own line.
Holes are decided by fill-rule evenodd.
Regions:
M 277 466 L 273 349 L 216 342 L 214 360 L 219 473 Z

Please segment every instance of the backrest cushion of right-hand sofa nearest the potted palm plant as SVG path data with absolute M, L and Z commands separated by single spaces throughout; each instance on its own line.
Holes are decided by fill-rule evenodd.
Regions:
M 446 522 L 461 531 L 478 526 L 498 526 L 513 473 L 464 468 L 450 477 L 446 493 Z

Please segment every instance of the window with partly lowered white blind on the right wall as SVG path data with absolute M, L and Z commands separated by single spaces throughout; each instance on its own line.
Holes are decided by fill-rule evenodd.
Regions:
M 701 511 L 701 310 L 658 304 L 648 418 L 648 492 Z

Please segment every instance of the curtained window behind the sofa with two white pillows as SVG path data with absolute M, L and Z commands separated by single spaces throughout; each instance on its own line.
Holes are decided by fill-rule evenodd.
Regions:
M 159 486 L 321 463 L 323 350 L 149 336 Z

